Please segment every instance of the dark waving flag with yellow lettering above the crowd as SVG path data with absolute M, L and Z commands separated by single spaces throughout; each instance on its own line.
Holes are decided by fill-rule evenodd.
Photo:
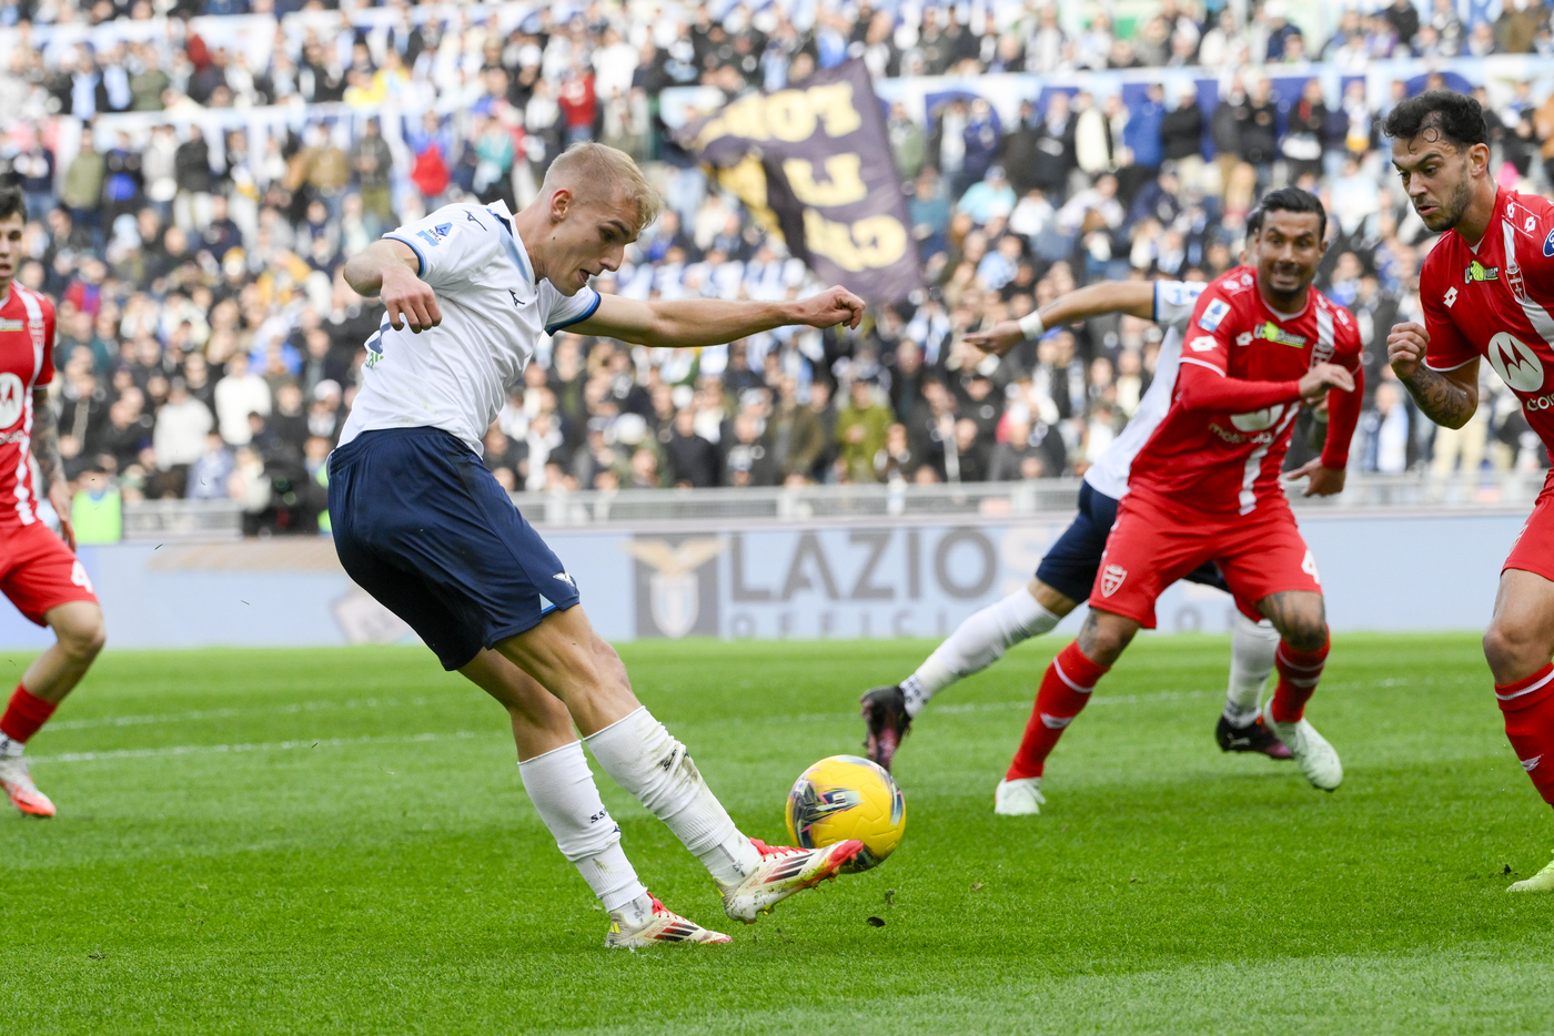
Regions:
M 816 276 L 870 303 L 923 286 L 884 112 L 861 57 L 747 93 L 679 134 Z

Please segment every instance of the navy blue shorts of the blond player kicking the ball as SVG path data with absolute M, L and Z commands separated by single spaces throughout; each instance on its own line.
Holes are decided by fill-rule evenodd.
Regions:
M 364 432 L 329 455 L 334 550 L 444 669 L 578 603 L 555 551 L 441 429 Z

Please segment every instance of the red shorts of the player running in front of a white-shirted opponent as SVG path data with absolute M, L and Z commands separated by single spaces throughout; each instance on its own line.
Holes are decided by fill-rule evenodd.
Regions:
M 1206 561 L 1225 575 L 1235 607 L 1262 618 L 1257 601 L 1285 590 L 1322 592 L 1316 559 L 1288 506 L 1263 506 L 1232 519 L 1187 516 L 1133 489 L 1100 556 L 1089 606 L 1155 629 L 1155 601 Z

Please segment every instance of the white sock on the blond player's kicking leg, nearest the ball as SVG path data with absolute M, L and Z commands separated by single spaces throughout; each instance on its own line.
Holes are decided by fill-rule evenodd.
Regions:
M 732 885 L 760 865 L 761 854 L 733 826 L 685 746 L 646 707 L 584 741 L 605 772 L 668 825 L 715 879 Z

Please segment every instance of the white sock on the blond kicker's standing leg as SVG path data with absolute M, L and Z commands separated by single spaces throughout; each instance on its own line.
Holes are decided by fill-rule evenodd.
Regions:
M 581 742 L 522 760 L 517 772 L 561 854 L 572 860 L 606 910 L 629 912 L 636 901 L 650 902 L 620 848 L 620 826 L 598 797 Z M 629 923 L 642 924 L 642 918 Z

